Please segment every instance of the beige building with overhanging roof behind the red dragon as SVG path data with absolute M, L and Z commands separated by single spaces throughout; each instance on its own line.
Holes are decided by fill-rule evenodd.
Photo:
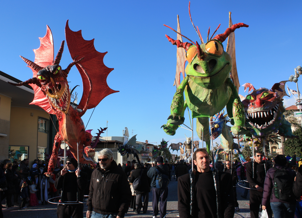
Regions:
M 22 82 L 0 71 L 0 159 L 21 161 L 44 159 L 49 153 L 49 114 L 30 104 L 34 90 L 30 85 L 13 86 Z

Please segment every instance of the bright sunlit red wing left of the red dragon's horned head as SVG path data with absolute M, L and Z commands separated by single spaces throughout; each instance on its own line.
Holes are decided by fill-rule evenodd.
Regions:
M 53 35 L 49 26 L 47 26 L 46 35 L 40 39 L 40 47 L 38 49 L 34 49 L 35 53 L 35 63 L 41 67 L 46 67 L 48 65 L 53 64 Z M 31 68 L 30 66 L 28 66 Z M 37 76 L 37 72 L 31 68 L 34 75 Z M 53 109 L 51 108 L 49 101 L 47 100 L 46 95 L 43 93 L 41 88 L 35 84 L 29 84 L 35 92 L 34 100 L 30 104 L 35 104 L 42 107 L 47 113 L 55 114 Z

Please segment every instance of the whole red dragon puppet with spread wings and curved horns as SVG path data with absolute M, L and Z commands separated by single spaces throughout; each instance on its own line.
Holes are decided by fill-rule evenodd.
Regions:
M 47 33 L 40 38 L 40 47 L 34 50 L 34 62 L 21 58 L 32 69 L 34 76 L 25 82 L 12 85 L 29 84 L 34 89 L 34 100 L 31 104 L 42 107 L 49 114 L 56 114 L 59 120 L 59 130 L 55 136 L 53 152 L 48 165 L 47 176 L 53 175 L 58 151 L 62 141 L 69 145 L 69 150 L 79 162 L 92 164 L 88 155 L 84 155 L 84 147 L 91 145 L 91 134 L 85 131 L 81 117 L 87 109 L 96 107 L 107 95 L 118 92 L 107 85 L 107 76 L 113 70 L 104 65 L 105 53 L 95 50 L 94 39 L 84 40 L 81 30 L 74 32 L 69 29 L 68 20 L 65 27 L 66 43 L 73 62 L 62 69 L 59 65 L 64 49 L 64 41 L 54 57 L 53 36 L 47 26 Z M 68 73 L 73 65 L 79 70 L 83 82 L 83 95 L 76 109 L 70 107 L 70 92 L 67 82 Z M 78 147 L 77 147 L 78 146 Z M 89 150 L 89 149 L 86 149 Z M 89 150 L 89 152 L 91 152 Z M 89 155 L 90 156 L 90 155 Z

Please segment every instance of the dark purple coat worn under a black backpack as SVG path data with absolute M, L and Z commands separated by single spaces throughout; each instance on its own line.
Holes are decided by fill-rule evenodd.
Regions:
M 277 163 L 275 164 L 274 167 L 276 167 L 278 169 L 284 168 L 284 166 L 281 166 Z M 286 170 L 289 171 L 289 174 L 291 175 L 291 178 L 294 181 L 294 178 L 296 176 L 296 173 L 294 172 L 294 170 L 292 170 L 289 167 L 287 167 Z M 286 202 L 286 201 L 276 198 L 275 193 L 274 192 L 272 193 L 275 171 L 276 170 L 274 168 L 270 168 L 268 170 L 268 172 L 266 173 L 265 181 L 264 181 L 262 205 L 268 206 L 270 202 L 282 202 L 282 203 L 287 203 L 287 204 L 295 204 L 296 199 L 295 199 L 294 195 L 292 196 L 290 202 Z

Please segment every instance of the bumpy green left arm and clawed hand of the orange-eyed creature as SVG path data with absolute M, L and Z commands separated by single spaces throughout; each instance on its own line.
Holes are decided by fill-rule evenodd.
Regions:
M 167 124 L 162 125 L 165 133 L 174 136 L 178 126 L 185 121 L 185 109 L 187 108 L 187 102 L 184 99 L 185 87 L 188 85 L 189 77 L 185 77 L 182 83 L 176 89 L 171 104 L 171 114 L 168 117 Z M 161 127 L 161 128 L 162 128 Z

